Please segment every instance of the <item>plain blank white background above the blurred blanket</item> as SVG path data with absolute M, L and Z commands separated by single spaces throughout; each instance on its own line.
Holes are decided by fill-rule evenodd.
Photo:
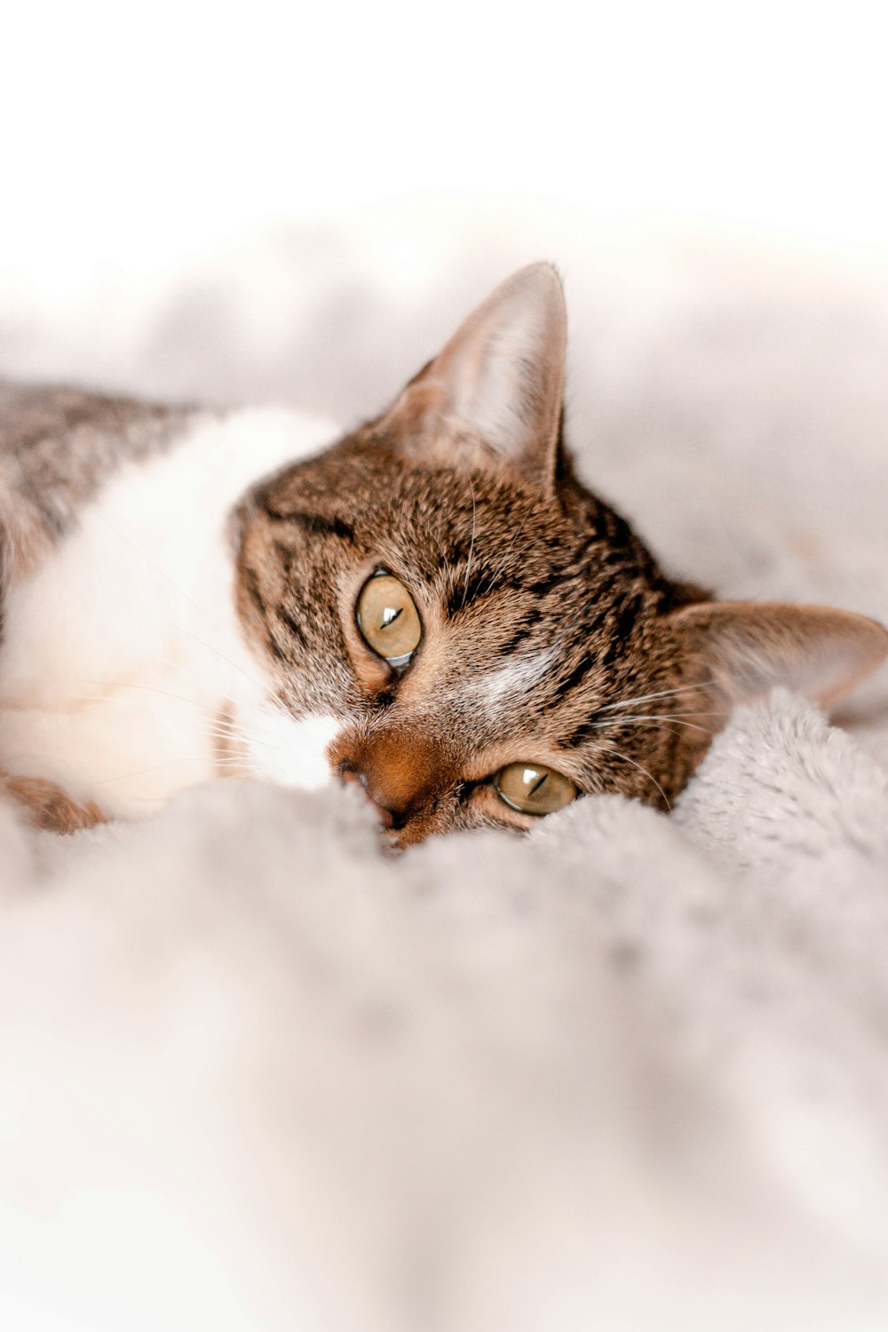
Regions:
M 0 278 L 426 192 L 888 236 L 880 4 L 19 4 Z

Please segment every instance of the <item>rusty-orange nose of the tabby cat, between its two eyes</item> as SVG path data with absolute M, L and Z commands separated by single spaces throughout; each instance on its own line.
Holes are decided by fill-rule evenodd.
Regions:
M 386 829 L 402 829 L 426 814 L 453 782 L 453 765 L 441 745 L 410 731 L 385 731 L 358 743 L 338 763 L 343 782 L 358 782 Z

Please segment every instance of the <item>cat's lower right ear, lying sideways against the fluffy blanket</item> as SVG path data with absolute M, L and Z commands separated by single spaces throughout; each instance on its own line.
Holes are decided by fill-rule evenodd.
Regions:
M 762 698 L 776 685 L 835 703 L 888 657 L 888 631 L 849 610 L 716 601 L 670 618 L 683 655 L 715 686 L 716 707 Z

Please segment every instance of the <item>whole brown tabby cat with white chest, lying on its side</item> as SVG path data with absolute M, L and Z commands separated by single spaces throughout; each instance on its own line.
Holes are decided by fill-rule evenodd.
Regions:
M 5 795 L 72 831 L 217 777 L 357 782 L 403 848 L 667 810 L 735 703 L 875 670 L 875 621 L 714 601 L 580 484 L 566 329 L 522 269 L 345 437 L 0 386 Z

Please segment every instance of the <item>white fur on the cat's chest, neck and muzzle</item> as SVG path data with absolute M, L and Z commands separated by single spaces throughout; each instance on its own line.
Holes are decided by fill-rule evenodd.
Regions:
M 130 817 L 244 770 L 244 757 L 298 785 L 326 778 L 329 719 L 284 722 L 286 734 L 264 738 L 269 681 L 234 611 L 228 525 L 254 480 L 334 433 L 284 412 L 200 420 L 108 481 L 8 593 L 0 770 Z

